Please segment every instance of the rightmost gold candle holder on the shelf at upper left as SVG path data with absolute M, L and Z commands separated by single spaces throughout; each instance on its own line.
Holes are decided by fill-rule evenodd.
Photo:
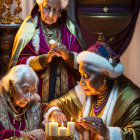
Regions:
M 20 7 L 21 4 L 21 0 L 16 0 L 16 4 L 18 5 L 15 9 L 14 9 L 14 23 L 16 24 L 21 24 L 23 22 L 23 19 L 19 17 L 19 13 L 22 11 L 22 8 Z

